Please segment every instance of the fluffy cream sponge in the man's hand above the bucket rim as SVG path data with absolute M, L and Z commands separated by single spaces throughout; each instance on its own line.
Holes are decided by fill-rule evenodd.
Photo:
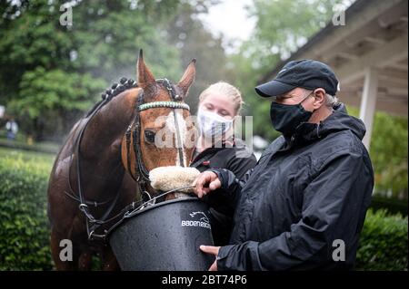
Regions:
M 185 188 L 192 186 L 195 178 L 200 174 L 200 171 L 195 168 L 185 167 L 159 167 L 152 169 L 149 172 L 149 179 L 152 188 L 161 191 L 169 191 L 177 188 L 183 193 L 193 192 L 193 188 Z

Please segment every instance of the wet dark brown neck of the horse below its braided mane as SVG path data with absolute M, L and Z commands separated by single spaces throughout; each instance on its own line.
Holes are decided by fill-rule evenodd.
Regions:
M 132 89 L 117 95 L 89 120 L 79 148 L 81 186 L 84 187 L 85 197 L 108 197 L 119 188 L 124 176 L 121 140 L 135 118 L 136 99 L 140 91 Z

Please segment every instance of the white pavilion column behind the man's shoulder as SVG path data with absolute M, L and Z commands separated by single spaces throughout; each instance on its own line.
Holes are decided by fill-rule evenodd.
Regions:
M 374 124 L 377 92 L 378 72 L 374 67 L 368 67 L 365 71 L 364 92 L 361 99 L 361 109 L 359 111 L 359 118 L 364 120 L 366 127 L 366 134 L 363 142 L 368 150 L 371 143 L 372 128 Z

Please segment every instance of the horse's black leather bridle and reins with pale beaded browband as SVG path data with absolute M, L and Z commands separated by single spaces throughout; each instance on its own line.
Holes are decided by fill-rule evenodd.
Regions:
M 84 213 L 85 215 L 85 222 L 86 222 L 86 231 L 87 231 L 87 236 L 89 240 L 101 240 L 103 242 L 106 241 L 106 236 L 109 234 L 109 232 L 112 231 L 112 229 L 116 226 L 118 226 L 122 221 L 125 219 L 125 217 L 131 216 L 130 213 L 134 212 L 135 210 L 138 210 L 140 208 L 145 207 L 145 204 L 149 204 L 149 201 L 153 200 L 155 201 L 158 197 L 165 196 L 165 194 L 168 194 L 172 191 L 165 192 L 164 194 L 161 194 L 156 197 L 150 197 L 149 193 L 147 192 L 147 186 L 149 185 L 149 171 L 146 169 L 144 160 L 142 158 L 142 150 L 141 150 L 141 117 L 140 117 L 140 112 L 145 111 L 145 110 L 150 110 L 150 109 L 155 109 L 155 108 L 171 108 L 174 113 L 175 117 L 175 128 L 176 128 L 176 138 L 179 141 L 179 144 L 183 144 L 181 141 L 181 136 L 180 136 L 180 131 L 178 128 L 178 122 L 177 122 L 177 117 L 176 117 L 176 111 L 177 109 L 182 109 L 182 110 L 187 110 L 190 111 L 189 106 L 182 102 L 183 97 L 181 95 L 178 95 L 175 91 L 175 86 L 172 84 L 167 79 L 159 79 L 156 80 L 156 83 L 160 83 L 165 86 L 165 89 L 169 93 L 169 96 L 171 97 L 172 101 L 152 101 L 152 102 L 146 102 L 144 103 L 144 92 L 141 92 L 138 95 L 138 99 L 136 102 L 136 108 L 135 108 L 135 119 L 129 125 L 128 129 L 125 132 L 125 148 L 122 147 L 122 153 L 123 156 L 126 156 L 126 159 L 124 162 L 125 169 L 130 173 L 131 177 L 135 179 L 139 193 L 144 196 L 148 196 L 148 200 L 146 201 L 144 197 L 138 201 L 138 202 L 132 202 L 131 204 L 125 206 L 118 214 L 116 214 L 114 217 L 108 218 L 108 216 L 111 214 L 111 212 L 114 210 L 115 205 L 120 197 L 120 194 L 116 194 L 115 197 L 110 198 L 108 200 L 105 200 L 103 202 L 95 202 L 95 201 L 90 201 L 86 200 L 83 194 L 82 186 L 81 186 L 81 166 L 80 166 L 80 146 L 81 146 L 81 140 L 84 137 L 84 132 L 89 124 L 90 120 L 93 119 L 95 114 L 101 110 L 102 107 L 105 106 L 106 103 L 111 101 L 113 97 L 115 97 L 117 94 L 124 92 L 126 89 L 130 88 L 135 88 L 137 87 L 136 82 L 133 80 L 126 80 L 125 78 L 121 79 L 121 85 L 114 84 L 112 86 L 112 90 L 107 90 L 105 93 L 103 93 L 102 98 L 103 100 L 98 102 L 95 105 L 95 108 L 91 111 L 88 112 L 86 115 L 87 120 L 85 121 L 84 126 L 81 128 L 79 133 L 77 134 L 76 140 L 75 140 L 75 155 L 77 156 L 76 158 L 76 181 L 77 181 L 77 196 L 75 196 L 74 190 L 71 188 L 71 183 L 69 182 L 69 186 L 71 188 L 71 193 L 70 192 L 64 192 L 67 197 L 71 197 L 75 201 L 79 202 L 79 209 Z M 132 144 L 132 149 L 135 154 L 135 161 L 134 164 L 135 166 L 131 166 L 131 144 Z M 125 151 L 124 151 L 125 149 Z M 183 148 L 179 146 L 178 148 L 178 156 L 180 159 L 180 164 L 184 166 L 184 153 L 183 153 Z M 134 171 L 131 169 L 134 168 Z M 71 169 L 71 167 L 70 167 Z M 99 219 L 96 219 L 90 212 L 88 205 L 94 206 L 94 207 L 100 207 L 109 204 L 109 207 L 105 211 L 103 217 L 100 217 Z M 102 234 L 95 234 L 95 231 L 101 226 L 114 221 L 118 217 L 121 217 L 119 221 L 115 222 L 114 226 L 111 226 L 107 229 L 104 229 Z

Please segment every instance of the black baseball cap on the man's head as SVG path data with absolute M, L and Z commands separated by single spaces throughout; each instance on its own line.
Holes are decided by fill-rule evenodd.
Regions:
M 255 92 L 263 97 L 272 97 L 296 87 L 311 91 L 323 88 L 328 94 L 335 95 L 339 91 L 339 82 L 325 63 L 304 59 L 286 63 L 273 81 L 256 86 Z

